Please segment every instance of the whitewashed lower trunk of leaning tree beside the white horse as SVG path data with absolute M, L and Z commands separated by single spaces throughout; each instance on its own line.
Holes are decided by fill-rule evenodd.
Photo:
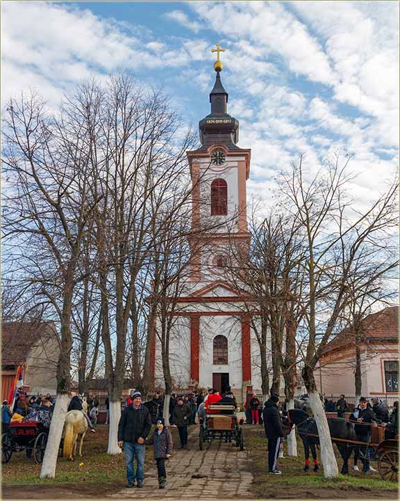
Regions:
M 46 451 L 44 452 L 40 478 L 56 478 L 58 449 L 60 447 L 61 436 L 63 436 L 63 426 L 68 405 L 69 395 L 58 394 L 53 416 L 51 417 L 49 438 L 47 439 Z

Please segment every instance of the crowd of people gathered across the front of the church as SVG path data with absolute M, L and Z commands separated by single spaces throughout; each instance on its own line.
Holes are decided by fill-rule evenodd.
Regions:
M 156 392 L 152 399 L 142 401 L 142 395 L 138 390 L 131 390 L 128 397 L 122 404 L 122 416 L 118 427 L 119 446 L 124 449 L 126 461 L 126 476 L 128 487 L 135 485 L 142 487 L 144 481 L 144 454 L 145 445 L 153 445 L 154 459 L 158 470 L 158 482 L 160 488 L 165 488 L 167 484 L 166 461 L 172 454 L 172 435 L 165 426 L 163 419 L 164 399 L 160 392 Z M 389 413 L 387 404 L 372 397 L 371 404 L 368 399 L 361 397 L 358 406 L 349 415 L 350 422 L 354 423 L 356 440 L 360 445 L 356 447 L 354 454 L 354 470 L 358 470 L 357 462 L 360 459 L 363 463 L 363 472 L 371 472 L 373 468 L 369 464 L 369 443 L 371 440 L 372 427 L 381 424 L 385 428 L 385 439 L 394 438 L 398 434 L 398 405 L 394 402 L 392 413 Z M 230 389 L 220 395 L 215 389 L 207 391 L 198 390 L 188 395 L 173 394 L 169 399 L 169 424 L 178 429 L 180 447 L 188 448 L 188 427 L 199 420 L 206 413 L 219 413 L 215 408 L 210 408 L 214 404 L 233 404 L 236 408 L 235 396 Z M 45 427 L 50 427 L 51 414 L 53 411 L 54 399 L 51 395 L 27 395 L 21 389 L 18 390 L 12 408 L 8 401 L 3 401 L 1 408 L 1 422 L 3 431 L 8 429 L 10 422 L 17 420 L 38 420 Z M 68 411 L 82 411 L 88 420 L 91 431 L 94 431 L 92 420 L 90 419 L 93 409 L 96 410 L 96 417 L 99 409 L 99 399 L 96 395 L 89 395 L 83 399 L 81 395 L 72 397 Z M 271 395 L 263 405 L 256 394 L 247 398 L 244 404 L 247 424 L 263 424 L 265 435 L 268 440 L 268 470 L 273 475 L 281 475 L 278 470 L 278 454 L 282 451 L 283 425 L 280 411 L 280 401 L 278 395 Z M 344 395 L 340 395 L 338 401 L 333 402 L 325 399 L 326 412 L 336 412 L 338 417 L 346 417 L 349 405 Z M 109 420 L 109 402 L 106 399 L 106 423 Z M 151 425 L 156 424 L 156 429 L 149 436 Z M 365 445 L 362 445 L 365 444 Z M 133 466 L 136 460 L 136 470 Z

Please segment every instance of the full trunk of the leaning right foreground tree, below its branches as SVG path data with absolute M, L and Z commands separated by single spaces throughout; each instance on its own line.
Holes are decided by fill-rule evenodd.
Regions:
M 303 368 L 303 380 L 308 391 L 309 404 L 314 414 L 315 423 L 317 424 L 324 477 L 336 478 L 339 476 L 339 470 L 335 452 L 333 451 L 331 432 L 329 431 L 328 420 L 326 420 L 324 406 L 315 385 L 313 368 L 309 365 Z

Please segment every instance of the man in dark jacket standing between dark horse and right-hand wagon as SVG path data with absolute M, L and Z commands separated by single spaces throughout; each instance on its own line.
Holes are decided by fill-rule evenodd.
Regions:
M 377 420 L 374 411 L 367 407 L 367 399 L 360 397 L 358 408 L 350 415 L 350 421 L 354 424 L 354 431 L 356 433 L 356 440 L 368 444 L 371 440 L 371 429 L 377 427 Z M 367 445 L 358 445 L 356 452 L 363 461 L 363 472 L 368 475 L 369 470 L 369 450 Z

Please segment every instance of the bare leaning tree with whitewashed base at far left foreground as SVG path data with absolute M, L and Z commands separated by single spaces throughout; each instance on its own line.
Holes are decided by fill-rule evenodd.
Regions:
M 33 93 L 8 103 L 3 124 L 3 239 L 19 262 L 26 290 L 58 317 L 57 399 L 40 476 L 55 477 L 69 401 L 72 308 L 81 245 L 97 200 L 88 186 L 82 123 L 67 108 L 51 116 Z

